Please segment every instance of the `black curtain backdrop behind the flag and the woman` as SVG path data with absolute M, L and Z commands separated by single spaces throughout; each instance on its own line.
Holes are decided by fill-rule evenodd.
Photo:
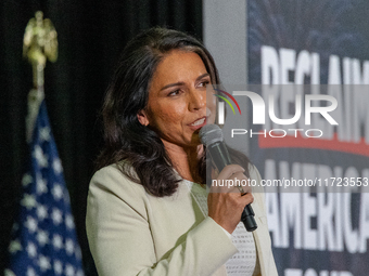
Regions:
M 102 146 L 98 111 L 114 65 L 140 30 L 166 26 L 202 38 L 201 0 L 2 0 L 0 3 L 0 271 L 8 262 L 21 179 L 31 67 L 22 58 L 28 21 L 41 10 L 58 31 L 59 58 L 46 67 L 46 102 L 72 199 L 87 275 L 96 275 L 85 234 L 86 199 Z

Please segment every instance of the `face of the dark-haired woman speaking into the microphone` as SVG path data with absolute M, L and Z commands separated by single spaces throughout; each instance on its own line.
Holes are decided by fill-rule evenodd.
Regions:
M 196 53 L 169 52 L 154 71 L 148 107 L 138 114 L 140 122 L 149 124 L 165 143 L 199 145 L 199 130 L 215 120 L 215 97 L 206 106 L 209 83 L 211 76 Z

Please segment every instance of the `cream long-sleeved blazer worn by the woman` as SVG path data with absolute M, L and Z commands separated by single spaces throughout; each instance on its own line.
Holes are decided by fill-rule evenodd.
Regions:
M 251 179 L 259 182 L 256 169 Z M 264 195 L 253 196 L 260 272 L 275 276 Z M 100 276 L 226 276 L 225 263 L 237 252 L 221 226 L 203 215 L 184 182 L 173 196 L 154 197 L 114 165 L 91 180 L 86 226 Z

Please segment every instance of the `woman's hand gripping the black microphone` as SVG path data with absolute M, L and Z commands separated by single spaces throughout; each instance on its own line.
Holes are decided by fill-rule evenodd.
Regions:
M 226 185 L 226 180 L 239 180 L 240 183 L 247 181 L 243 174 L 244 169 L 239 165 L 229 165 L 219 173 L 217 181 L 224 181 L 224 186 L 212 185 L 207 196 L 208 216 L 224 227 L 228 233 L 232 234 L 237 225 L 241 221 L 241 214 L 246 205 L 253 202 L 254 197 L 251 194 L 250 186 L 242 186 L 244 193 L 241 195 L 236 186 Z

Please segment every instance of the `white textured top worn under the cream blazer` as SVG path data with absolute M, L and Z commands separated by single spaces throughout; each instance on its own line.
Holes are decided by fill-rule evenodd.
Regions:
M 198 183 L 183 180 L 191 195 L 199 205 L 201 211 L 207 216 L 207 193 Z M 224 228 L 222 228 L 224 229 Z M 238 252 L 226 263 L 227 274 L 229 276 L 252 276 L 260 273 L 259 263 L 256 254 L 256 247 L 253 234 L 247 232 L 242 222 L 237 225 L 232 234 L 226 229 L 225 233 L 232 239 Z

